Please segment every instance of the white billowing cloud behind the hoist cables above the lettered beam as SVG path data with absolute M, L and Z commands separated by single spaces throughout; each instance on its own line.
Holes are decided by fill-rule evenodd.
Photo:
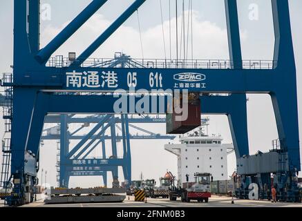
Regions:
M 188 12 L 185 13 L 188 17 Z M 199 12 L 193 13 L 194 23 L 194 59 L 228 59 L 227 30 L 220 28 L 216 23 L 201 21 Z M 68 55 L 68 52 L 77 52 L 79 55 L 88 47 L 106 28 L 111 24 L 103 15 L 95 14 L 80 28 L 66 43 L 57 50 L 54 55 Z M 45 46 L 67 23 L 61 27 L 47 26 L 41 32 L 41 45 Z M 164 36 L 167 57 L 169 57 L 169 21 L 164 21 Z M 179 44 L 181 17 L 178 18 Z M 176 58 L 176 18 L 171 19 L 171 51 L 172 57 Z M 164 58 L 164 43 L 162 37 L 162 24 L 142 31 L 142 48 L 145 58 Z M 245 33 L 242 35 L 245 37 Z M 187 21 L 186 21 L 186 44 L 187 44 Z M 191 58 L 191 31 L 188 41 L 188 55 Z M 183 57 L 183 39 L 182 50 Z M 140 46 L 140 32 L 131 26 L 120 27 L 91 57 L 113 57 L 114 52 L 125 52 L 134 58 L 142 58 Z

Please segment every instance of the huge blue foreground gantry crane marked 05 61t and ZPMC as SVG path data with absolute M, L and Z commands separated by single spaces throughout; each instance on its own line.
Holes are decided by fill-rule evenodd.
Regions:
M 173 96 L 170 90 L 197 94 L 201 113 L 226 114 L 229 117 L 237 172 L 241 179 L 239 197 L 246 195 L 251 182 L 257 183 L 261 191 L 265 184 L 270 186 L 271 175 L 274 175 L 273 184 L 280 193 L 279 199 L 297 200 L 296 176 L 301 164 L 296 68 L 288 1 L 272 0 L 275 48 L 274 59 L 270 62 L 243 61 L 236 0 L 225 0 L 229 60 L 137 59 L 138 64 L 113 68 L 105 65 L 106 59 L 90 59 L 93 52 L 145 1 L 135 0 L 79 57 L 70 55 L 67 59 L 62 56 L 50 59 L 106 0 L 92 1 L 44 48 L 39 48 L 39 0 L 15 0 L 13 75 L 4 77 L 1 82 L 1 86 L 13 91 L 10 93 L 12 106 L 4 116 L 12 121 L 11 140 L 3 147 L 11 157 L 9 180 L 14 184 L 13 194 L 7 198 L 8 204 L 24 204 L 33 200 L 32 189 L 37 184 L 39 170 L 39 142 L 46 115 L 113 114 L 122 95 L 135 104 L 142 104 L 140 96 L 128 93 L 131 88 L 152 92 L 146 97 L 153 108 L 138 111 L 127 106 L 126 111 L 119 113 L 122 116 L 129 113 L 167 113 L 167 105 L 159 108 L 162 97 L 165 104 L 169 97 L 162 95 L 163 91 L 167 91 L 170 97 Z M 225 93 L 229 96 L 220 96 Z M 279 144 L 269 153 L 249 155 L 248 93 L 272 97 Z M 108 120 L 105 118 L 104 122 Z M 127 122 L 127 119 L 123 121 Z M 122 140 L 125 146 L 129 146 L 125 137 Z M 78 147 L 75 146 L 68 157 L 79 151 Z M 71 160 L 68 163 L 73 164 Z M 122 166 L 123 162 L 112 157 L 106 163 Z

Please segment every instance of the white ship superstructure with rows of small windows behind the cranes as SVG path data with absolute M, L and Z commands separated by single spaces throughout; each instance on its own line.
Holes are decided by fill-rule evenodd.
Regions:
M 205 135 L 202 128 L 179 139 L 180 144 L 166 144 L 164 149 L 178 157 L 179 184 L 195 182 L 194 173 L 211 173 L 214 180 L 227 180 L 227 154 L 233 144 L 223 144 L 220 135 Z

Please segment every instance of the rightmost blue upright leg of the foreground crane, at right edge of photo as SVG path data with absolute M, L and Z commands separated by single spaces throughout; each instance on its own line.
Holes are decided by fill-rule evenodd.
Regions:
M 287 151 L 292 170 L 300 171 L 296 64 L 288 1 L 272 0 L 272 10 L 276 41 L 274 59 L 278 60 L 275 64 L 278 74 L 274 76 L 274 82 L 278 82 L 279 86 L 270 95 L 281 148 Z

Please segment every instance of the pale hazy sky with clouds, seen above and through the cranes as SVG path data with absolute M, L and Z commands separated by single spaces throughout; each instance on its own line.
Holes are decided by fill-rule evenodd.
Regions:
M 44 16 L 41 20 L 41 47 L 44 47 L 53 39 L 90 2 L 88 0 L 76 1 L 76 3 L 74 0 L 41 0 L 41 16 Z M 67 56 L 68 52 L 76 52 L 79 55 L 131 2 L 133 0 L 108 0 L 104 7 L 98 10 L 54 55 Z M 302 83 L 302 63 L 299 61 L 302 59 L 302 42 L 299 39 L 302 39 L 302 1 L 289 0 L 289 2 L 296 56 L 300 111 L 302 108 L 302 88 L 300 86 Z M 178 0 L 179 24 L 181 21 L 181 3 L 182 1 Z M 187 17 L 188 1 L 185 0 L 185 3 L 185 16 Z M 114 52 L 124 52 L 133 58 L 169 58 L 171 48 L 171 57 L 175 58 L 176 10 L 174 5 L 175 1 L 171 1 L 171 47 L 169 44 L 169 1 L 162 0 L 161 15 L 160 0 L 148 0 L 138 10 L 138 13 L 135 12 L 91 57 L 111 58 Z M 50 8 L 48 8 L 49 6 Z M 251 20 L 250 7 L 254 6 L 258 6 L 258 18 Z M 194 31 L 193 42 L 191 42 L 191 36 L 188 40 L 189 59 L 191 59 L 191 45 L 194 47 L 194 59 L 229 59 L 224 1 L 193 0 L 193 11 Z M 270 0 L 239 0 L 238 11 L 243 59 L 272 60 L 274 29 L 272 26 Z M 164 29 L 164 41 L 162 29 Z M 0 71 L 3 73 L 11 72 L 10 65 L 12 65 L 13 48 L 12 0 L 2 0 L 0 3 L 0 30 Z M 248 97 L 247 117 L 250 152 L 256 153 L 258 150 L 268 151 L 272 147 L 272 140 L 278 138 L 272 102 L 268 95 L 248 95 Z M 3 125 L 3 122 L 0 123 Z M 232 142 L 227 117 L 211 116 L 210 124 L 210 134 L 221 134 L 225 139 L 225 143 Z M 299 114 L 299 124 L 300 126 L 302 125 L 301 114 Z M 164 125 L 148 124 L 142 127 L 156 133 L 164 134 L 165 132 Z M 0 129 L 1 134 L 3 133 L 3 127 Z M 136 133 L 135 131 L 132 132 Z M 164 144 L 167 144 L 167 142 L 169 141 L 131 141 L 133 180 L 138 179 L 141 172 L 144 177 L 154 177 L 155 179 L 164 175 L 167 169 L 174 174 L 177 173 L 176 156 L 164 151 Z M 177 142 L 177 139 L 174 142 Z M 99 153 L 96 151 L 93 154 L 97 155 Z M 56 155 L 56 143 L 45 141 L 44 146 L 41 148 L 41 168 L 44 168 L 44 171 L 48 171 L 47 180 L 51 185 L 56 184 L 56 171 L 54 167 Z M 229 155 L 228 160 L 229 175 L 231 175 L 236 166 L 234 154 Z M 39 176 L 41 176 L 40 173 Z M 122 177 L 122 173 L 120 173 L 120 177 Z M 97 186 L 100 180 L 100 177 L 88 177 L 86 179 L 73 177 L 70 180 L 70 186 Z

